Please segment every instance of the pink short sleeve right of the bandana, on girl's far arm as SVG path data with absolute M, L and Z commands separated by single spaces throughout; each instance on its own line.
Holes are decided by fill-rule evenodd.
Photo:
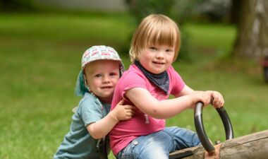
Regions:
M 171 95 L 177 95 L 183 90 L 185 83 L 181 76 L 176 72 L 173 67 L 169 68 L 169 77 L 171 77 Z

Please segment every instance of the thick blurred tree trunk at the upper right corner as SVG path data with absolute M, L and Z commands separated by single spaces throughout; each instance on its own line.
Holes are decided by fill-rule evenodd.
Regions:
M 268 56 L 268 1 L 242 1 L 239 18 L 233 55 L 246 58 Z

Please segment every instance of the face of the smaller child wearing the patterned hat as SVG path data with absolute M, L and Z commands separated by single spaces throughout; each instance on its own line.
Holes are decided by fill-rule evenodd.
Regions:
M 119 62 L 114 60 L 92 61 L 85 66 L 87 86 L 100 100 L 111 103 L 114 88 L 119 80 Z

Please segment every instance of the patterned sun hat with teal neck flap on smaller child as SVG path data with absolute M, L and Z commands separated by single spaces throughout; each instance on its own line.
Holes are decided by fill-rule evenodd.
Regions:
M 111 59 L 111 60 L 119 61 L 120 62 L 120 66 L 119 66 L 120 74 L 121 75 L 123 74 L 123 71 L 124 71 L 123 62 L 114 48 L 107 47 L 104 45 L 90 47 L 84 52 L 83 57 L 82 57 L 82 61 L 81 61 L 82 69 L 80 73 L 78 74 L 78 80 L 75 86 L 75 95 L 83 96 L 85 92 L 90 92 L 90 88 L 88 88 L 85 85 L 83 69 L 85 68 L 86 64 L 89 64 L 92 61 L 96 61 L 100 59 Z

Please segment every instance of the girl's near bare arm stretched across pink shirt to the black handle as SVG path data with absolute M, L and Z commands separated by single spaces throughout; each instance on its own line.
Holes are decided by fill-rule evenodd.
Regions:
M 126 91 L 126 97 L 145 114 L 158 119 L 166 119 L 193 107 L 196 102 L 208 105 L 212 91 L 193 91 L 187 86 L 183 88 L 178 98 L 157 100 L 145 88 L 131 88 Z

